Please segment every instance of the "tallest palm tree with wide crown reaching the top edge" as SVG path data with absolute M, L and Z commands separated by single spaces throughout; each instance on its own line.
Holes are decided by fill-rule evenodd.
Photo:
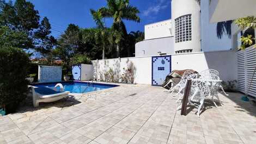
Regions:
M 136 7 L 132 7 L 129 0 L 107 0 L 107 7 L 100 8 L 99 11 L 103 17 L 113 17 L 112 28 L 119 32 L 117 37 L 117 57 L 120 56 L 120 35 L 126 36 L 127 31 L 123 20 L 141 22 L 139 18 L 139 10 Z

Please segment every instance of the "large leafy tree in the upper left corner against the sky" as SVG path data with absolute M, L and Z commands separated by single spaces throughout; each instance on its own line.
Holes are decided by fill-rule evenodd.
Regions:
M 16 37 L 23 36 L 19 45 L 16 45 L 16 39 L 9 37 L 9 40 L 13 41 L 5 41 L 8 45 L 16 43 L 15 46 L 19 48 L 32 48 L 46 53 L 50 52 L 56 42 L 54 37 L 50 36 L 51 24 L 48 19 L 45 17 L 40 23 L 38 10 L 35 10 L 34 5 L 26 0 L 16 0 L 15 3 L 0 0 L 0 26 L 2 30 L 16 33 Z M 5 34 L 5 38 L 8 38 L 6 36 L 8 34 Z

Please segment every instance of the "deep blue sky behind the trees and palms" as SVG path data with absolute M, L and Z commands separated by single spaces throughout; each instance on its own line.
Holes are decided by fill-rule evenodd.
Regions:
M 95 27 L 90 9 L 106 6 L 106 0 L 27 0 L 35 5 L 41 18 L 47 17 L 52 26 L 52 35 L 58 37 L 68 24 L 74 23 L 81 28 Z M 143 31 L 144 25 L 167 20 L 171 17 L 170 0 L 130 0 L 139 9 L 141 22 L 125 21 L 127 32 Z M 106 26 L 111 27 L 113 20 L 107 18 Z

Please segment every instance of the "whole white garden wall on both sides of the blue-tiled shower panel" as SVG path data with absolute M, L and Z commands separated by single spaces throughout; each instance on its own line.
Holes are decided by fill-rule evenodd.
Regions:
M 116 61 L 120 61 L 120 71 L 127 66 L 126 61 L 130 60 L 137 68 L 135 83 L 151 84 L 151 57 L 135 57 L 121 59 L 107 59 L 107 67 L 114 67 Z M 97 63 L 99 64 L 97 66 Z M 94 60 L 94 72 L 98 73 L 97 78 L 100 79 L 99 72 L 102 72 L 106 65 L 104 60 Z M 201 72 L 206 69 L 215 69 L 220 72 L 222 80 L 237 79 L 236 54 L 234 51 L 221 52 L 198 52 L 188 54 L 172 55 L 172 70 L 193 69 Z

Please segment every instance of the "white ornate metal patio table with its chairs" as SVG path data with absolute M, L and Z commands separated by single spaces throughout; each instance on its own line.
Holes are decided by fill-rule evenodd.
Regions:
M 193 73 L 189 70 L 185 71 L 180 82 L 169 90 L 171 94 L 173 94 L 174 91 L 178 91 L 174 95 L 174 97 L 179 96 L 176 103 L 182 99 L 182 93 L 185 90 L 188 80 L 192 80 L 191 93 L 188 96 L 188 104 L 194 105 L 198 109 L 198 117 L 204 108 L 204 101 L 206 98 L 211 97 L 210 99 L 217 108 L 218 106 L 214 101 L 214 98 L 217 98 L 217 101 L 222 105 L 222 102 L 218 97 L 218 90 L 221 89 L 225 95 L 227 95 L 227 93 L 225 93 L 221 85 L 222 80 L 220 80 L 218 71 L 212 69 L 200 73 Z M 181 106 L 182 103 L 179 104 L 177 110 L 181 109 Z

